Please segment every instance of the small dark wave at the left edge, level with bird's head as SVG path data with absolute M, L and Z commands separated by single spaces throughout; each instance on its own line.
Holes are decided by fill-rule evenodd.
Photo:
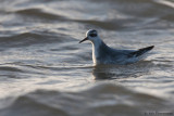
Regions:
M 63 39 L 62 39 L 63 38 Z M 72 37 L 69 37 L 63 34 L 52 34 L 52 33 L 23 33 L 18 35 L 13 35 L 10 37 L 0 37 L 0 47 L 28 47 L 36 43 L 53 43 L 61 42 L 64 40 L 71 40 Z

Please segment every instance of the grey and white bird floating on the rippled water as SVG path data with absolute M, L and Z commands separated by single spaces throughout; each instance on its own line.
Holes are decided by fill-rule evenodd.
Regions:
M 133 64 L 142 60 L 145 54 L 154 48 L 154 46 L 150 46 L 138 50 L 113 49 L 107 46 L 103 40 L 100 39 L 96 29 L 87 30 L 85 39 L 80 40 L 79 43 L 86 40 L 89 40 L 92 44 L 92 61 L 95 65 Z

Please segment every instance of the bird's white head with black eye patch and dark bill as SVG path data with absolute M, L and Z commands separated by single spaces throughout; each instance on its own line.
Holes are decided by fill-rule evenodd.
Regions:
M 91 41 L 92 43 L 100 41 L 100 38 L 99 38 L 99 36 L 98 36 L 97 30 L 95 30 L 95 29 L 89 29 L 89 30 L 86 33 L 86 38 L 83 39 L 82 41 L 79 41 L 79 43 L 82 43 L 83 41 L 86 41 L 86 40 L 89 40 L 89 41 Z

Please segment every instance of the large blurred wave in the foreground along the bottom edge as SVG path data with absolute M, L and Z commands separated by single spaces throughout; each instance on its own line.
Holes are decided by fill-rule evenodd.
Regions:
M 100 83 L 79 92 L 37 90 L 18 96 L 0 112 L 1 116 L 112 116 L 140 115 L 151 108 L 170 106 L 164 100 L 129 91 L 112 83 Z M 125 112 L 126 109 L 126 112 Z M 169 108 L 171 109 L 171 108 Z

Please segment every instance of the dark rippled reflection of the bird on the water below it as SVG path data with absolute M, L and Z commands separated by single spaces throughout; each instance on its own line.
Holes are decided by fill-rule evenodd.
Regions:
M 119 79 L 129 77 L 140 77 L 145 73 L 150 73 L 149 66 L 154 65 L 149 61 L 142 61 L 130 65 L 97 65 L 92 68 L 94 79 Z

